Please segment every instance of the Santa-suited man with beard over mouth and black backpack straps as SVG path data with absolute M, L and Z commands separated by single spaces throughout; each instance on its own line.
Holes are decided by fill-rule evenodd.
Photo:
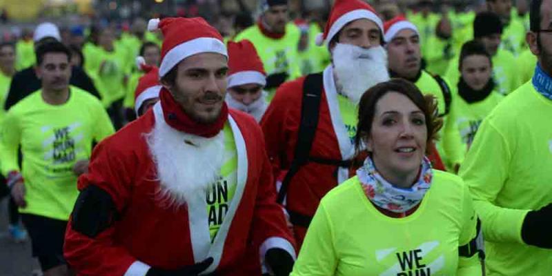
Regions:
M 316 75 L 310 75 L 284 83 L 261 121 L 275 175 L 286 173 L 279 201 L 286 196 L 298 245 L 320 199 L 353 176 L 354 170 L 350 172 L 348 168 L 355 155 L 356 105 L 368 88 L 389 79 L 382 32 L 382 20 L 368 3 L 336 0 L 324 34 L 317 37 L 319 45 L 327 43 L 331 64 L 316 79 Z M 306 85 L 308 78 L 313 81 Z M 313 104 L 304 105 L 303 101 L 316 97 L 315 86 L 322 87 L 318 112 L 314 118 L 306 118 Z M 296 149 L 301 136 L 299 126 L 302 121 L 312 124 L 316 120 L 313 139 L 306 143 L 311 145 L 308 158 L 297 162 L 297 152 L 304 148 Z M 297 164 L 301 165 L 299 169 Z M 289 177 L 294 170 L 293 177 Z

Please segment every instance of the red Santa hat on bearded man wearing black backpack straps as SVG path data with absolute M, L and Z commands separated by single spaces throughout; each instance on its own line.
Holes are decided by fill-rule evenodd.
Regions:
M 329 43 L 347 23 L 357 19 L 374 21 L 382 32 L 384 30 L 382 19 L 368 3 L 362 0 L 335 0 L 324 34 L 318 34 L 316 37 L 316 45 Z

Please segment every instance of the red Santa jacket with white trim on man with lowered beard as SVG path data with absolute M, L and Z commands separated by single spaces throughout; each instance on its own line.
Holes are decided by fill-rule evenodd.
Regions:
M 69 223 L 64 244 L 68 264 L 79 275 L 132 275 L 148 266 L 175 269 L 213 257 L 206 273 L 259 275 L 268 248 L 284 248 L 295 257 L 282 207 L 275 203 L 262 131 L 243 112 L 230 110 L 228 121 L 238 152 L 238 183 L 213 244 L 208 228 L 198 228 L 193 223 L 197 215 L 186 206 L 166 208 L 154 197 L 159 182 L 144 133 L 164 124 L 158 103 L 92 153 L 79 190 L 91 184 L 106 190 L 121 218 L 94 239 Z

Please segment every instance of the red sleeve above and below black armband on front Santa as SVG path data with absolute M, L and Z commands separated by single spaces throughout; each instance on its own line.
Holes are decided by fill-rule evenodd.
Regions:
M 117 145 L 106 139 L 98 144 L 90 158 L 89 172 L 79 178 L 79 190 L 96 185 L 106 190 L 112 197 L 117 210 L 124 209 L 128 201 L 129 168 L 123 161 L 123 153 L 117 152 Z M 117 224 L 90 238 L 72 229 L 68 223 L 63 253 L 71 268 L 78 275 L 124 275 L 128 267 L 136 261 L 128 251 L 114 241 Z

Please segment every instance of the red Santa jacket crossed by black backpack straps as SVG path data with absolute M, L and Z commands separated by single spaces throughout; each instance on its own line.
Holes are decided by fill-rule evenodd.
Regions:
M 355 155 L 355 149 L 339 112 L 331 66 L 324 70 L 323 79 L 319 121 L 310 156 L 348 160 Z M 301 119 L 304 80 L 302 77 L 280 86 L 261 121 L 266 150 L 276 176 L 281 176 L 283 171 L 288 170 L 293 161 Z M 290 181 L 286 208 L 312 217 L 320 199 L 338 183 L 353 175 L 354 170 L 309 162 L 302 166 Z M 294 226 L 294 231 L 297 244 L 300 246 L 306 229 Z

